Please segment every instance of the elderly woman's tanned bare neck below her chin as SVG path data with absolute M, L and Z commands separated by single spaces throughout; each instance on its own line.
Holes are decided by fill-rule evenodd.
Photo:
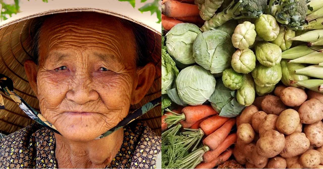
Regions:
M 118 153 L 123 128 L 107 137 L 89 142 L 74 142 L 55 134 L 58 168 L 105 168 Z

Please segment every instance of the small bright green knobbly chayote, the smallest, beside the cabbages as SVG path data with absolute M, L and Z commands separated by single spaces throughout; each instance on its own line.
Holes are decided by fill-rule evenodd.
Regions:
M 235 72 L 232 68 L 225 69 L 222 75 L 222 81 L 225 87 L 231 90 L 240 89 L 243 83 L 243 74 Z

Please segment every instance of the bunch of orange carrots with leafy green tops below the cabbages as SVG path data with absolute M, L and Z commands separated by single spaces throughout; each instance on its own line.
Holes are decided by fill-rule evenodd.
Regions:
M 162 116 L 162 168 L 213 168 L 230 158 L 235 118 L 210 105 L 186 106 Z

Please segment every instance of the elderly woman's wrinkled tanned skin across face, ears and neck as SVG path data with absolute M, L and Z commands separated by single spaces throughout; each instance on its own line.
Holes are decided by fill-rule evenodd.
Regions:
M 39 65 L 27 60 L 26 75 L 42 115 L 62 134 L 55 133 L 58 167 L 102 168 L 118 152 L 123 128 L 93 139 L 142 99 L 155 68 L 149 63 L 137 69 L 133 32 L 116 18 L 87 12 L 61 15 L 45 20 Z

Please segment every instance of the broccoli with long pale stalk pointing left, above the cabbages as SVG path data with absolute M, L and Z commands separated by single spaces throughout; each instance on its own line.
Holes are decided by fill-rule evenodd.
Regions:
M 259 18 L 266 9 L 267 0 L 233 0 L 223 11 L 205 21 L 203 32 L 223 25 L 230 19 Z

